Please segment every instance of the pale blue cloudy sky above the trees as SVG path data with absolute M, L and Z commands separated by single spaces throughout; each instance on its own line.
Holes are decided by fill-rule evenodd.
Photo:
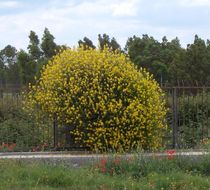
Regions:
M 0 49 L 27 49 L 28 35 L 41 39 L 45 27 L 59 45 L 75 46 L 85 36 L 97 45 L 98 34 L 115 37 L 178 37 L 186 47 L 195 34 L 210 39 L 210 0 L 0 0 Z

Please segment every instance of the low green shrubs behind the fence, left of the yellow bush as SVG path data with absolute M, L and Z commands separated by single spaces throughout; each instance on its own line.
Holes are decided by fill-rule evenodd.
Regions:
M 0 146 L 15 144 L 9 151 L 32 151 L 44 143 L 51 146 L 52 134 L 46 131 L 47 122 L 37 122 L 22 109 L 20 97 L 4 94 L 0 99 Z M 0 151 L 8 151 L 3 149 Z

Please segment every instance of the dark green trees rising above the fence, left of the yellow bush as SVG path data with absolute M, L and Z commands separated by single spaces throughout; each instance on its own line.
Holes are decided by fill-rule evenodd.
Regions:
M 53 35 L 46 28 L 40 44 L 34 31 L 30 31 L 28 52 L 17 51 L 7 45 L 0 51 L 0 84 L 27 86 L 39 76 L 42 66 L 56 53 L 59 47 L 54 42 Z

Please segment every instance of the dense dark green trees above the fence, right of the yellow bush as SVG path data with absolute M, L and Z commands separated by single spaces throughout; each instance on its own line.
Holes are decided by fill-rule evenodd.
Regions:
M 131 60 L 146 68 L 160 83 L 172 85 L 209 85 L 209 41 L 195 35 L 194 42 L 182 48 L 178 38 L 170 42 L 163 37 L 158 42 L 153 37 L 133 36 L 126 43 Z

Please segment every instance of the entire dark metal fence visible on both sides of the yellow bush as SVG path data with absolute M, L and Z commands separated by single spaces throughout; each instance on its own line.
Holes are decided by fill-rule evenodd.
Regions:
M 210 87 L 162 87 L 168 107 L 170 148 L 195 148 L 210 134 Z M 21 111 L 22 89 L 0 86 L 0 151 L 78 149 L 67 127 L 48 118 L 36 121 Z

